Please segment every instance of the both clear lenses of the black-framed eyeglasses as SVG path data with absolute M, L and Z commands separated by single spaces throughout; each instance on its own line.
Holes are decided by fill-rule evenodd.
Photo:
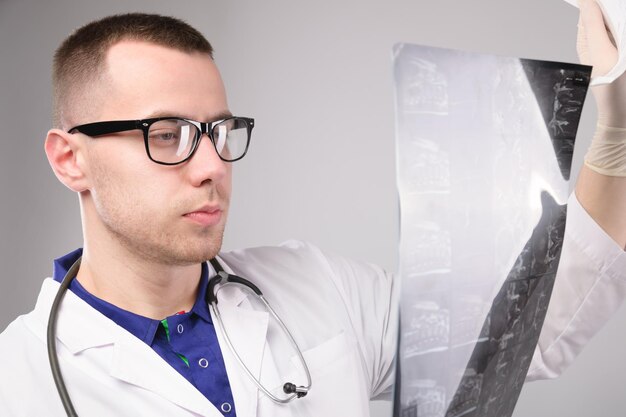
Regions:
M 219 156 L 226 161 L 241 158 L 248 145 L 248 124 L 243 119 L 226 119 L 213 126 L 211 136 Z M 148 152 L 155 161 L 177 163 L 193 151 L 199 129 L 181 119 L 163 119 L 148 129 Z

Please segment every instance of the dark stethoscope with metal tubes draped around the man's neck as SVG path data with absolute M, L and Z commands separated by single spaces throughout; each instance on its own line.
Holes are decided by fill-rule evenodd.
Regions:
M 61 305 L 61 300 L 63 299 L 65 292 L 69 288 L 70 283 L 72 282 L 74 278 L 76 278 L 76 274 L 78 274 L 78 269 L 80 268 L 80 261 L 81 261 L 81 258 L 78 258 L 76 262 L 74 262 L 74 264 L 67 271 L 67 274 L 65 274 L 63 281 L 61 282 L 61 286 L 59 287 L 59 290 L 57 291 L 57 294 L 54 297 L 54 301 L 52 302 L 52 307 L 50 308 L 50 317 L 48 319 L 48 331 L 47 331 L 48 361 L 50 362 L 50 368 L 52 370 L 52 377 L 54 378 L 54 384 L 57 387 L 57 391 L 59 392 L 59 397 L 61 398 L 61 402 L 63 403 L 63 407 L 65 408 L 65 413 L 68 415 L 68 417 L 78 417 L 78 414 L 74 410 L 74 405 L 72 404 L 70 395 L 67 392 L 65 381 L 63 379 L 63 375 L 61 374 L 61 368 L 59 366 L 59 358 L 57 356 L 57 349 L 56 349 L 56 322 L 57 322 L 57 316 L 59 312 L 59 306 Z M 309 392 L 309 389 L 311 389 L 311 373 L 309 372 L 309 367 L 307 366 L 306 361 L 304 360 L 304 356 L 302 355 L 300 348 L 298 347 L 298 345 L 296 344 L 296 341 L 291 335 L 291 332 L 289 331 L 289 329 L 287 329 L 287 326 L 285 326 L 285 324 L 280 319 L 280 317 L 278 317 L 274 309 L 269 305 L 269 303 L 263 296 L 263 293 L 261 292 L 261 290 L 259 290 L 259 288 L 256 285 L 254 285 L 247 279 L 239 277 L 237 275 L 228 274 L 227 272 L 225 272 L 222 266 L 220 265 L 220 263 L 216 259 L 211 259 L 210 262 L 217 274 L 209 280 L 205 300 L 207 304 L 211 307 L 213 316 L 217 319 L 217 322 L 220 328 L 222 329 L 222 334 L 224 336 L 224 340 L 226 341 L 226 344 L 228 345 L 228 348 L 237 359 L 237 362 L 239 363 L 243 371 L 248 375 L 248 377 L 250 377 L 250 379 L 252 379 L 252 381 L 254 381 L 256 386 L 265 395 L 267 395 L 272 401 L 276 403 L 285 404 L 285 403 L 292 401 L 295 398 L 302 398 L 305 395 L 307 395 L 307 393 Z M 218 288 L 216 292 L 215 287 L 218 284 L 239 284 L 243 288 L 247 289 L 248 291 L 251 291 L 254 294 L 256 294 L 259 300 L 263 302 L 267 310 L 270 312 L 270 314 L 274 317 L 274 319 L 278 322 L 278 324 L 282 328 L 283 332 L 285 333 L 285 335 L 291 342 L 291 345 L 293 346 L 294 350 L 297 352 L 298 357 L 300 358 L 300 362 L 302 363 L 302 368 L 304 369 L 304 372 L 306 374 L 306 379 L 307 379 L 306 386 L 296 386 L 295 384 L 291 382 L 286 382 L 283 385 L 283 392 L 285 394 L 290 394 L 290 395 L 288 395 L 286 398 L 279 398 L 275 396 L 274 394 L 272 394 L 267 388 L 265 388 L 263 384 L 261 384 L 261 381 L 259 381 L 254 376 L 254 374 L 250 371 L 250 369 L 248 369 L 246 364 L 243 362 L 243 360 L 237 353 L 237 350 L 233 346 L 230 338 L 228 337 L 228 332 L 226 331 L 226 328 L 224 327 L 224 323 L 222 322 L 222 316 L 220 315 L 219 308 L 217 307 L 217 304 L 218 304 L 217 293 L 220 291 L 221 288 L 223 288 L 223 285 L 220 286 L 220 288 Z

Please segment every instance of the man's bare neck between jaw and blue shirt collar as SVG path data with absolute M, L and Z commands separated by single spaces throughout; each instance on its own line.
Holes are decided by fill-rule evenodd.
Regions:
M 123 310 L 161 320 L 193 307 L 201 265 L 163 265 L 128 251 L 85 242 L 76 279 L 92 295 Z

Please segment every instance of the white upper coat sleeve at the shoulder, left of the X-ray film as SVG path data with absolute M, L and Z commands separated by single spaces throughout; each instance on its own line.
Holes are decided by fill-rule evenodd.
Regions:
M 399 283 L 382 268 L 324 254 L 356 337 L 370 398 L 389 398 L 395 370 Z

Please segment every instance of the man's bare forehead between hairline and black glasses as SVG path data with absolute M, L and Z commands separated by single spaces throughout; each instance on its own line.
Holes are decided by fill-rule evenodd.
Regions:
M 102 120 L 171 112 L 203 121 L 228 111 L 219 71 L 205 53 L 122 41 L 107 52 L 106 79 Z

